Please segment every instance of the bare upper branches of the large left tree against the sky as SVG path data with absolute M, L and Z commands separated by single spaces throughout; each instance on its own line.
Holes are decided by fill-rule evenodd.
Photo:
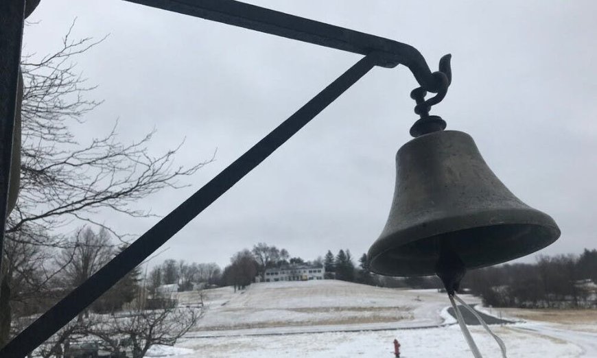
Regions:
M 132 204 L 160 189 L 182 187 L 177 178 L 209 163 L 175 167 L 180 145 L 151 156 L 147 145 L 154 132 L 125 144 L 119 141 L 116 125 L 104 136 L 78 143 L 72 127 L 84 125 L 84 115 L 101 102 L 87 99 L 95 86 L 86 84 L 73 58 L 103 39 L 71 40 L 72 29 L 55 53 L 39 60 L 27 55 L 22 61 L 21 187 L 7 232 L 32 230 L 30 239 L 43 245 L 59 244 L 64 237 L 40 237 L 40 231 L 60 228 L 72 219 L 104 226 L 97 219 L 101 209 L 149 216 Z

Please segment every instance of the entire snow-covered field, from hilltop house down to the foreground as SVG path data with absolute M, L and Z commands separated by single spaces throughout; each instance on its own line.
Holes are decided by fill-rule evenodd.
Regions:
M 198 327 L 175 347 L 156 347 L 148 357 L 393 357 L 394 339 L 401 357 L 471 357 L 458 326 L 446 316 L 447 297 L 434 290 L 307 281 L 205 292 L 207 311 Z M 197 300 L 196 293 L 178 295 L 180 302 Z M 597 357 L 597 333 L 584 330 L 591 322 L 572 323 L 528 321 L 493 329 L 508 357 Z M 484 357 L 501 357 L 480 326 L 471 333 Z

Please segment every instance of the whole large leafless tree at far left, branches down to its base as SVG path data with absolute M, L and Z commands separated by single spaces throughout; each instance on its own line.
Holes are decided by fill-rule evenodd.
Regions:
M 74 25 L 74 22 L 73 22 Z M 25 90 L 21 108 L 21 183 L 19 200 L 8 217 L 5 259 L 1 271 L 0 346 L 8 339 L 10 302 L 35 298 L 64 267 L 49 265 L 58 250 L 69 248 L 73 223 L 103 227 L 121 241 L 128 236 L 104 224 L 108 212 L 130 217 L 154 214 L 134 202 L 165 188 L 180 188 L 178 179 L 194 174 L 211 159 L 191 167 L 174 165 L 180 147 L 153 156 L 148 144 L 153 132 L 125 143 L 115 124 L 106 134 L 80 143 L 73 128 L 84 126 L 85 115 L 101 104 L 90 99 L 88 84 L 74 62 L 104 40 L 73 40 L 73 25 L 62 46 L 47 56 L 26 54 L 21 61 Z M 103 215 L 102 215 L 103 214 Z M 21 287 L 19 284 L 24 283 Z M 43 296 L 43 295 L 36 295 Z M 8 323 L 7 323 L 8 322 Z

